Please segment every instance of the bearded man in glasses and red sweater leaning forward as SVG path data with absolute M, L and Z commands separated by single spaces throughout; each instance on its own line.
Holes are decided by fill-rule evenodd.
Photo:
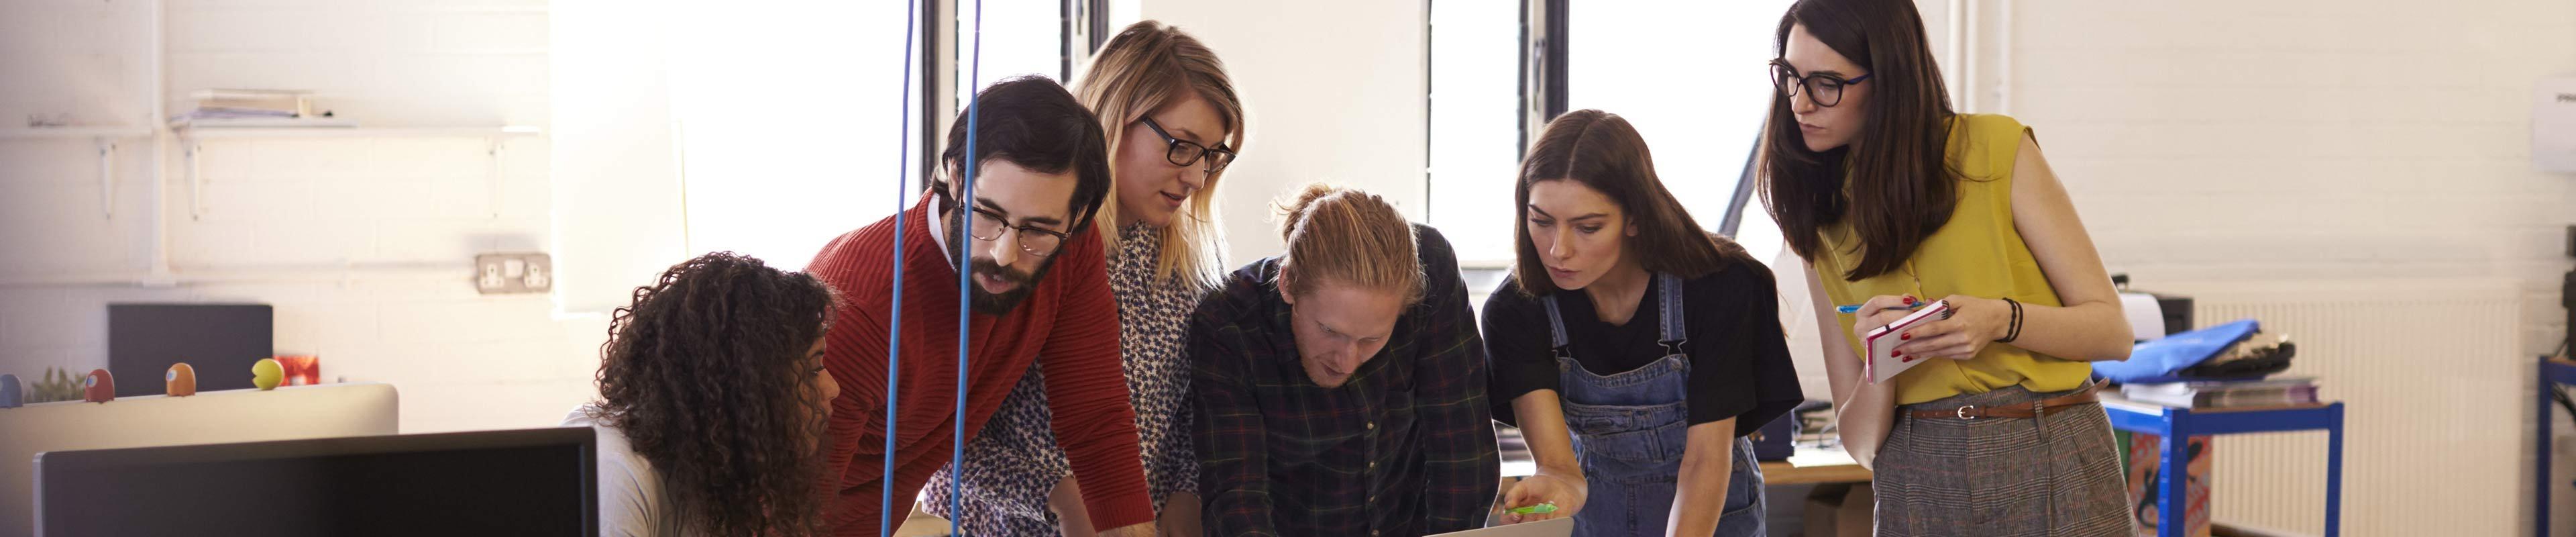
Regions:
M 948 465 L 958 421 L 971 434 L 1023 374 L 1046 372 L 1056 444 L 1082 480 L 1082 506 L 1105 534 L 1154 534 L 1154 506 L 1136 454 L 1136 418 L 1118 361 L 1118 305 L 1092 212 L 1110 188 L 1100 121 L 1043 77 L 1012 77 L 976 93 L 976 147 L 966 121 L 948 127 L 943 178 L 979 165 L 974 199 L 958 181 L 933 181 L 896 217 L 835 238 L 806 271 L 842 294 L 824 369 L 832 400 L 827 475 L 832 532 L 876 534 L 884 496 L 894 516 L 930 472 Z M 963 201 L 963 204 L 961 204 Z M 894 243 L 902 240 L 902 258 Z M 958 416 L 958 253 L 974 276 L 966 413 Z M 902 263 L 902 330 L 891 336 L 902 387 L 886 392 L 894 271 Z M 1041 359 L 1043 356 L 1043 359 Z M 886 403 L 896 403 L 894 475 L 886 475 Z M 945 501 L 945 498 L 940 498 Z

